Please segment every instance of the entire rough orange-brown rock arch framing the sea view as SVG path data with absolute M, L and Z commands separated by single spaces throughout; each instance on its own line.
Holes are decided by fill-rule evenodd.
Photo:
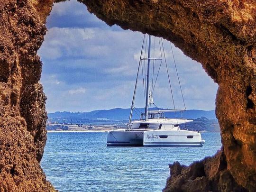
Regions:
M 256 1 L 80 1 L 109 25 L 172 41 L 219 84 L 216 113 L 223 151 L 190 167 L 174 163 L 165 191 L 186 191 L 189 185 L 255 191 Z M 53 0 L 0 0 L 1 192 L 54 191 L 39 165 L 46 97 L 38 83 L 42 64 L 37 56 L 52 6 Z

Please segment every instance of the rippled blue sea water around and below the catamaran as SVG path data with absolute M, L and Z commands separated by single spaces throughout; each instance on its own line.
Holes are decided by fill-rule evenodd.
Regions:
M 219 132 L 203 147 L 107 147 L 107 133 L 49 132 L 41 166 L 60 192 L 161 192 L 168 164 L 189 165 L 220 148 Z

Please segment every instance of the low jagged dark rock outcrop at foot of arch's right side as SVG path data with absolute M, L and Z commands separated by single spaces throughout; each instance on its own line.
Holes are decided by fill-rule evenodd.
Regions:
M 246 192 L 227 170 L 223 150 L 190 166 L 174 162 L 163 192 Z

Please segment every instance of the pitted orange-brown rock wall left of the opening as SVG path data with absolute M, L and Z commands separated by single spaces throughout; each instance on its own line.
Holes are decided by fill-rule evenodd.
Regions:
M 39 165 L 47 116 L 37 50 L 51 7 L 0 0 L 0 192 L 55 191 Z

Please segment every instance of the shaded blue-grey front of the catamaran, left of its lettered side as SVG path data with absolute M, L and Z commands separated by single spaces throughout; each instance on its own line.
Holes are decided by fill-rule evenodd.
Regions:
M 109 131 L 107 146 L 143 146 L 143 131 Z

